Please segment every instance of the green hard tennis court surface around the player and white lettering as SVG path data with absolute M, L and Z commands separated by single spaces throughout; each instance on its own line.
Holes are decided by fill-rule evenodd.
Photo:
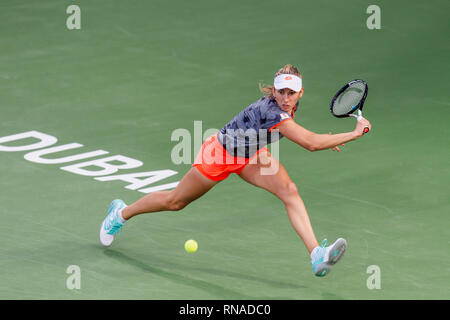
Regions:
M 81 28 L 69 30 L 73 4 Z M 381 29 L 366 25 L 372 4 Z M 0 150 L 0 298 L 449 299 L 449 9 L 3 0 L 0 139 L 35 131 L 57 139 L 48 147 L 82 145 L 47 159 L 107 154 L 46 164 L 25 158 L 40 149 L 11 151 L 32 138 L 0 143 L 9 150 Z M 61 167 L 122 155 L 142 165 L 115 174 L 166 170 L 174 174 L 145 188 L 174 184 L 190 164 L 172 162 L 172 133 L 194 140 L 194 121 L 201 133 L 222 128 L 287 63 L 305 88 L 295 120 L 314 132 L 353 130 L 354 119 L 332 117 L 330 99 L 352 79 L 369 85 L 372 131 L 362 139 L 339 153 L 279 143 L 318 240 L 348 241 L 327 277 L 314 276 L 281 201 L 236 175 L 182 211 L 130 220 L 110 248 L 100 245 L 109 203 L 144 193 Z M 188 239 L 197 252 L 185 252 Z M 79 289 L 68 286 L 70 266 Z M 370 289 L 373 266 L 379 288 Z

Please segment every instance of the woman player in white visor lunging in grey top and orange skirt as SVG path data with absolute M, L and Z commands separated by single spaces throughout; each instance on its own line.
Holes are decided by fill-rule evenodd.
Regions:
M 314 274 L 325 276 L 342 257 L 347 243 L 340 238 L 330 246 L 326 246 L 326 241 L 319 246 L 295 183 L 266 146 L 286 137 L 309 151 L 340 151 L 339 146 L 362 137 L 364 128 L 370 129 L 371 125 L 363 118 L 351 132 L 317 134 L 297 124 L 295 111 L 304 90 L 302 76 L 292 65 L 278 70 L 274 84 L 260 85 L 260 90 L 264 94 L 261 99 L 205 140 L 192 168 L 175 189 L 150 193 L 129 206 L 114 200 L 100 227 L 101 243 L 111 245 L 116 232 L 130 218 L 142 213 L 181 210 L 236 173 L 283 202 L 294 230 L 310 254 Z

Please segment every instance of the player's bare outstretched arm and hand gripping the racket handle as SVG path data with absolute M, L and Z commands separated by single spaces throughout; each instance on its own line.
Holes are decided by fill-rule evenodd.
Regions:
M 277 129 L 289 140 L 297 143 L 309 151 L 318 151 L 334 148 L 343 143 L 356 140 L 362 136 L 364 127 L 370 129 L 366 119 L 359 121 L 355 130 L 338 134 L 318 134 L 302 127 L 294 121 L 284 121 Z

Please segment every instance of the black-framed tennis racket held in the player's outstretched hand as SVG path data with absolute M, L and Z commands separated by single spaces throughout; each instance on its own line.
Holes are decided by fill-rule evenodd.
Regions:
M 361 79 L 347 83 L 331 100 L 331 114 L 338 118 L 354 117 L 360 121 L 368 89 L 367 83 Z M 358 111 L 357 114 L 353 114 L 355 111 Z M 367 132 L 369 132 L 369 127 L 365 127 L 363 130 L 363 133 Z

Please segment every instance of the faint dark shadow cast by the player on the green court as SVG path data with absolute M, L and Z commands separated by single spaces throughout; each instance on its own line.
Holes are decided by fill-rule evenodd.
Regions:
M 220 299 L 247 299 L 247 300 L 249 300 L 249 299 L 292 299 L 289 297 L 251 297 L 251 296 L 242 294 L 240 292 L 233 291 L 228 288 L 222 287 L 220 285 L 206 282 L 204 280 L 192 279 L 192 278 L 182 276 L 182 275 L 179 275 L 179 274 L 176 274 L 173 272 L 164 271 L 160 268 L 152 267 L 142 261 L 139 261 L 136 258 L 132 258 L 126 254 L 119 252 L 119 251 L 107 249 L 107 250 L 104 250 L 104 254 L 106 256 L 116 259 L 120 262 L 131 264 L 139 269 L 144 270 L 145 272 L 151 272 L 155 275 L 158 275 L 163 278 L 167 278 L 167 279 L 175 281 L 177 283 L 192 286 L 192 287 L 198 288 L 200 290 L 207 291 L 208 293 L 213 294 Z M 163 261 L 161 261 L 161 262 L 163 262 Z M 166 263 L 166 264 L 168 264 L 168 263 Z M 277 287 L 277 288 L 306 289 L 305 286 L 301 286 L 301 285 L 271 281 L 271 280 L 267 280 L 267 279 L 258 278 L 255 276 L 242 275 L 242 274 L 236 273 L 236 272 L 210 269 L 210 268 L 187 268 L 186 266 L 180 266 L 180 265 L 176 265 L 173 263 L 171 263 L 171 266 L 175 267 L 177 269 L 183 269 L 183 270 L 191 269 L 191 270 L 205 272 L 205 273 L 209 273 L 209 274 L 213 274 L 213 275 L 228 276 L 228 277 L 233 277 L 233 278 L 237 278 L 237 279 L 258 281 L 258 282 L 261 282 L 264 284 L 269 284 L 269 285 Z

